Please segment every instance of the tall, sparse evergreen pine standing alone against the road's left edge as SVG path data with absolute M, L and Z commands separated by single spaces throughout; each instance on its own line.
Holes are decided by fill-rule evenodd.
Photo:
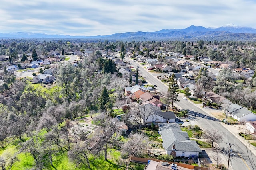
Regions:
M 177 92 L 178 89 L 179 89 L 179 85 L 177 84 L 175 74 L 172 74 L 170 78 L 169 89 L 168 89 L 168 93 L 170 95 L 170 101 L 172 102 L 172 107 L 174 102 L 180 101 L 177 98 L 179 96 L 179 93 Z

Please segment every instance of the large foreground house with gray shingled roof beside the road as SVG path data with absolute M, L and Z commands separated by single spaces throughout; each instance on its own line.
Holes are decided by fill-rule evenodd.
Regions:
M 159 123 L 160 134 L 163 140 L 163 147 L 166 154 L 174 157 L 184 156 L 186 158 L 197 158 L 199 152 L 202 152 L 196 141 L 188 137 L 188 133 L 180 129 L 176 123 Z

